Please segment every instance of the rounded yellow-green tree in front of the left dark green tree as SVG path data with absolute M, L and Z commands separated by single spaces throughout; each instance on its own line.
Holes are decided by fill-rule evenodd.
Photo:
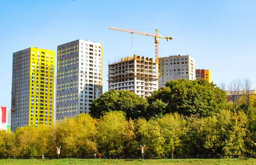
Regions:
M 104 155 L 123 154 L 124 146 L 133 139 L 132 125 L 122 111 L 111 111 L 102 116 L 97 122 L 99 152 Z

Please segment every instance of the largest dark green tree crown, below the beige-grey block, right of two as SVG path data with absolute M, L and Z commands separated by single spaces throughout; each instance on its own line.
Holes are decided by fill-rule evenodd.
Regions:
M 147 97 L 148 104 L 152 105 L 156 100 L 166 104 L 162 108 L 163 114 L 180 113 L 184 116 L 195 114 L 198 117 L 212 116 L 226 107 L 226 93 L 216 84 L 204 79 L 186 81 L 168 81 L 166 87 L 160 88 Z

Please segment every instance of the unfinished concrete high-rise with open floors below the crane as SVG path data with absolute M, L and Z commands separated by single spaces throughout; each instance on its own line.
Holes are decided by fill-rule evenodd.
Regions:
M 108 90 L 129 90 L 141 97 L 150 96 L 157 85 L 157 63 L 153 58 L 121 58 L 108 65 Z

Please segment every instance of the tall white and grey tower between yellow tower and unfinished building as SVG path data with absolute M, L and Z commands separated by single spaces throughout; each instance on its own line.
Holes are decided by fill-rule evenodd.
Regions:
M 102 95 L 103 45 L 76 40 L 58 46 L 56 121 L 88 113 Z

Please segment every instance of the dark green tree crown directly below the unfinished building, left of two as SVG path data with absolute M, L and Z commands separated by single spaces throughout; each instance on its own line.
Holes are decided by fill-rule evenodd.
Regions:
M 99 119 L 109 111 L 125 112 L 127 119 L 137 119 L 145 115 L 147 101 L 128 90 L 110 90 L 93 100 L 90 114 Z

